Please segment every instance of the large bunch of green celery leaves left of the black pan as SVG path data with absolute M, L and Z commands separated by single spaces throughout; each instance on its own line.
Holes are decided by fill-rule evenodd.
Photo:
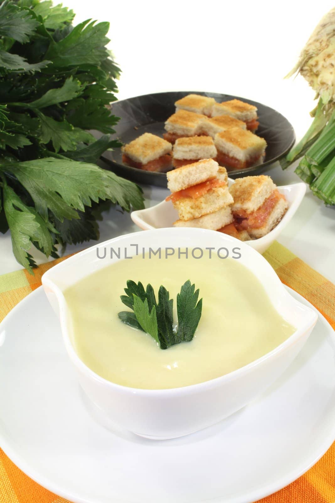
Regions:
M 135 184 L 96 165 L 120 146 L 106 107 L 120 71 L 106 49 L 109 24 L 73 18 L 50 0 L 0 0 L 0 231 L 11 230 L 30 272 L 32 244 L 57 257 L 59 243 L 98 237 L 99 201 L 143 207 Z

